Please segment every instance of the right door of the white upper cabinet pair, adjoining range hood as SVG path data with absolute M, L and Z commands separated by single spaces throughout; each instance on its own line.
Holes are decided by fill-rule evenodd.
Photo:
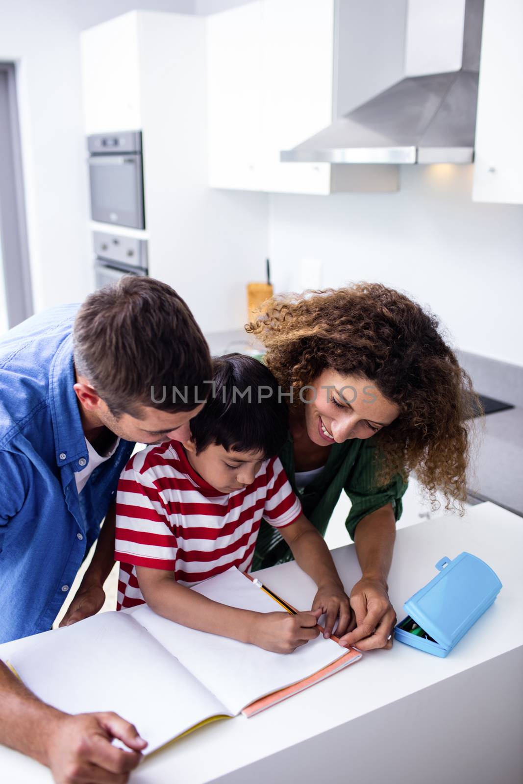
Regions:
M 330 165 L 281 163 L 332 121 L 333 0 L 263 0 L 264 190 L 327 194 Z

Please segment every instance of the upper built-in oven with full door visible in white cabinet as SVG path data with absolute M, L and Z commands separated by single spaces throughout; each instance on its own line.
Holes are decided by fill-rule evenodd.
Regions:
M 145 228 L 141 131 L 88 136 L 91 217 Z

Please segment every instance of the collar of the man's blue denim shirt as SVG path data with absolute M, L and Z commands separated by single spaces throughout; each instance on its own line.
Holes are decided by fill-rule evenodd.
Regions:
M 49 397 L 59 466 L 88 457 L 74 383 L 73 339 L 67 335 L 60 343 L 49 371 Z

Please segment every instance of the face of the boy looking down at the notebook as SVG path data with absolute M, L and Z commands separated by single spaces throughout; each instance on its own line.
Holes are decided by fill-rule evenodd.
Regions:
M 183 441 L 189 463 L 202 479 L 223 495 L 252 485 L 263 463 L 263 452 L 227 451 L 211 444 L 196 454 L 193 441 Z

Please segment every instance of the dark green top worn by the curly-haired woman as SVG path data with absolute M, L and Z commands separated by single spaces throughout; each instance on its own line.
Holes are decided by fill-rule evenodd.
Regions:
M 299 492 L 296 488 L 292 435 L 281 449 L 280 459 L 289 482 L 301 499 L 303 514 L 322 536 L 340 498 L 342 490 L 349 496 L 352 506 L 345 521 L 347 532 L 354 539 L 354 530 L 362 517 L 392 503 L 394 517 L 401 517 L 401 496 L 407 489 L 399 474 L 388 485 L 376 487 L 373 456 L 376 450 L 374 437 L 351 438 L 343 444 L 333 444 L 323 470 L 310 485 Z M 252 561 L 252 570 L 292 561 L 292 553 L 276 528 L 262 520 Z

